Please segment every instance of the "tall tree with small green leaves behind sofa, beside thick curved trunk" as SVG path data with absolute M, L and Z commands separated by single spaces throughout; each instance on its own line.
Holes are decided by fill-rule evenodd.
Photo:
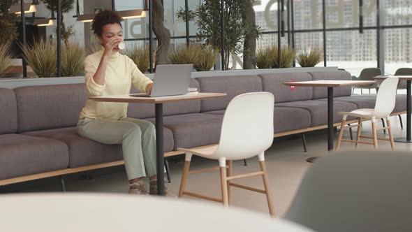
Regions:
M 226 0 L 224 8 L 225 34 L 225 68 L 229 67 L 230 55 L 237 55 L 242 52 L 242 43 L 246 34 L 253 34 L 258 38 L 261 34 L 260 27 L 244 20 L 244 10 L 253 0 Z M 186 10 L 180 8 L 177 17 L 186 21 Z M 205 41 L 207 45 L 220 50 L 221 44 L 221 0 L 205 0 L 194 11 L 189 12 L 190 19 L 197 17 L 198 41 Z

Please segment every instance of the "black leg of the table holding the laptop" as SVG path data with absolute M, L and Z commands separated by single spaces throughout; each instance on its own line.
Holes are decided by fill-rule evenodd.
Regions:
M 157 195 L 165 195 L 164 154 L 163 154 L 163 103 L 155 104 L 156 111 L 156 170 Z

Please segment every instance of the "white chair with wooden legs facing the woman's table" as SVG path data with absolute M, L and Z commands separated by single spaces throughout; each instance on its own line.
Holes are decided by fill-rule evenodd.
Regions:
M 266 194 L 270 215 L 274 215 L 272 195 L 267 178 L 264 155 L 265 150 L 267 150 L 273 142 L 273 113 L 273 94 L 268 92 L 241 94 L 230 101 L 228 108 L 226 109 L 226 113 L 223 117 L 219 145 L 203 149 L 178 148 L 179 151 L 186 152 L 182 182 L 179 189 L 179 198 L 188 195 L 221 202 L 223 205 L 228 206 L 231 195 L 230 187 L 238 187 Z M 219 160 L 219 167 L 189 171 L 193 154 L 207 159 Z M 248 159 L 256 156 L 259 158 L 260 171 L 244 175 L 232 175 L 233 160 Z M 222 198 L 212 198 L 184 191 L 189 174 L 203 173 L 217 169 L 220 169 L 221 172 Z M 256 175 L 261 175 L 263 177 L 264 190 L 232 182 L 232 180 Z

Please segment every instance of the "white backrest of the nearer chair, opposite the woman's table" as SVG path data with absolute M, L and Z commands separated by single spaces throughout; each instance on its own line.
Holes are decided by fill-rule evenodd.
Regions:
M 217 156 L 247 159 L 269 148 L 273 142 L 274 96 L 252 92 L 230 101 L 223 117 Z

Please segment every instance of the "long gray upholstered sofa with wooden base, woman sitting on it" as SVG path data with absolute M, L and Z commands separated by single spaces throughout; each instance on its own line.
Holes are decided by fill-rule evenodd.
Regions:
M 165 104 L 166 155 L 177 154 L 177 147 L 219 143 L 226 106 L 233 97 L 245 92 L 274 94 L 274 136 L 325 128 L 326 88 L 283 85 L 290 80 L 325 79 L 351 80 L 351 75 L 346 71 L 328 71 L 192 79 L 191 87 L 200 92 L 224 92 L 227 96 Z M 373 108 L 376 98 L 369 94 L 351 96 L 351 87 L 335 89 L 334 97 L 337 123 L 341 121 L 337 112 Z M 86 98 L 84 84 L 0 89 L 0 185 L 122 164 L 121 145 L 103 145 L 78 136 L 75 126 Z M 405 110 L 406 96 L 399 95 L 394 115 Z M 128 117 L 154 122 L 154 106 L 130 104 Z

